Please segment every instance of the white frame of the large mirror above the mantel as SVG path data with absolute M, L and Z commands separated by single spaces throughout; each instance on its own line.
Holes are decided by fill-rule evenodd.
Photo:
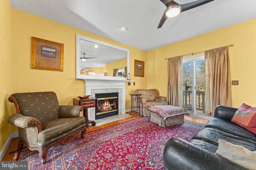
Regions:
M 127 80 L 126 77 L 91 76 L 91 75 L 82 75 L 82 74 L 80 74 L 80 62 L 81 62 L 81 59 L 80 59 L 81 43 L 80 43 L 80 41 L 81 40 L 90 41 L 92 43 L 97 43 L 97 44 L 100 44 L 100 45 L 105 45 L 105 46 L 108 46 L 108 47 L 112 47 L 112 48 L 115 48 L 115 49 L 126 51 L 127 52 L 127 73 L 130 73 L 130 50 L 129 49 L 119 47 L 117 45 L 113 45 L 113 44 L 106 43 L 106 42 L 103 42 L 103 41 L 99 41 L 99 40 L 96 40 L 96 39 L 92 39 L 92 38 L 89 38 L 89 37 L 85 37 L 83 35 L 76 34 L 76 79 L 84 79 L 84 80 Z

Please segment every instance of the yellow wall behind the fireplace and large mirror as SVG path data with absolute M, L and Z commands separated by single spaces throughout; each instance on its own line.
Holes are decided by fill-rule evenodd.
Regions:
M 72 105 L 73 98 L 84 95 L 84 81 L 75 79 L 76 34 L 130 49 L 131 75 L 134 59 L 146 61 L 146 51 L 12 8 L 12 93 L 51 90 L 62 105 Z M 64 44 L 64 72 L 30 69 L 31 36 Z M 130 108 L 129 93 L 136 88 L 147 88 L 146 75 L 132 79 L 136 86 L 126 88 L 126 109 Z

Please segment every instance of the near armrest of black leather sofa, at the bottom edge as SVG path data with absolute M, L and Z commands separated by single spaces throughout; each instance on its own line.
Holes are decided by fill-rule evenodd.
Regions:
M 168 170 L 245 170 L 213 152 L 177 137 L 167 141 L 163 159 Z

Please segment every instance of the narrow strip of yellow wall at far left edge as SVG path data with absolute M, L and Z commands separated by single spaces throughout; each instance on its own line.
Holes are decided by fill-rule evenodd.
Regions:
M 11 6 L 0 1 L 0 150 L 11 133 L 7 118 L 11 114 Z

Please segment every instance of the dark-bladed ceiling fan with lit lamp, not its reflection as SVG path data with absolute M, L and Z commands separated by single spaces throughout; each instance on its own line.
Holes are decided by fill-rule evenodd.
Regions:
M 164 24 L 164 22 L 167 20 L 167 18 L 171 18 L 171 17 L 175 17 L 178 14 L 180 14 L 181 12 L 187 11 L 187 10 L 191 10 L 193 8 L 196 8 L 198 6 L 207 4 L 209 2 L 212 2 L 214 0 L 197 0 L 195 2 L 190 2 L 187 4 L 178 4 L 177 2 L 175 2 L 174 0 L 160 0 L 162 3 L 164 3 L 164 5 L 167 7 L 164 15 L 162 16 L 158 27 L 157 28 L 161 28 L 162 25 Z

